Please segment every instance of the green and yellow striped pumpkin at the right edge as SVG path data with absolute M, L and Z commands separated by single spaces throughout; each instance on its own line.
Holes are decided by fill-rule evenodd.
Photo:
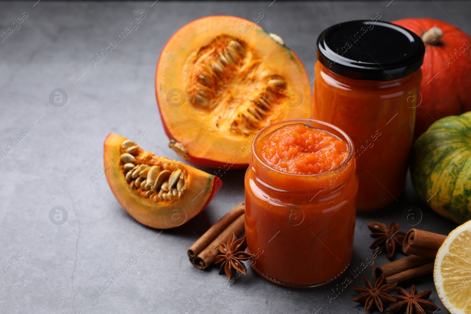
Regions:
M 419 198 L 458 224 L 471 219 L 471 112 L 433 123 L 412 148 Z

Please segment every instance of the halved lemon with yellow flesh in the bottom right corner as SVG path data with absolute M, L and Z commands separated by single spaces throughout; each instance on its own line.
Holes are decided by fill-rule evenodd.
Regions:
M 451 314 L 471 314 L 471 220 L 443 242 L 435 258 L 433 280 Z

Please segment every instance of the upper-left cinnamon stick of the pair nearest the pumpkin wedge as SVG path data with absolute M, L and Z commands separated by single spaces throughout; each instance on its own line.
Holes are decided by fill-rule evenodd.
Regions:
M 226 227 L 242 215 L 245 211 L 245 202 L 243 201 L 234 209 L 230 210 L 226 215 L 218 220 L 211 228 L 208 229 L 196 242 L 188 249 L 188 257 L 194 258 L 196 254 L 201 252 L 208 244 L 211 243 Z M 231 233 L 232 234 L 232 233 Z

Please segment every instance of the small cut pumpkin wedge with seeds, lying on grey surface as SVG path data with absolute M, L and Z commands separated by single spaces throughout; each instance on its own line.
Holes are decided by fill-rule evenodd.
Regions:
M 142 150 L 116 134 L 105 140 L 106 179 L 121 206 L 152 228 L 183 225 L 212 200 L 222 181 L 204 171 Z

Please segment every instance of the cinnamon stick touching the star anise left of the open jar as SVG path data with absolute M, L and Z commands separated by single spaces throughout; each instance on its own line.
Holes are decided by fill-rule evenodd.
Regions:
M 238 236 L 245 227 L 245 214 L 240 215 L 235 218 L 235 220 L 227 226 L 204 250 L 197 254 L 194 258 L 190 258 L 193 266 L 204 269 L 210 266 L 216 255 L 219 254 L 219 243 L 224 243 L 229 240 L 232 236 L 232 233 L 235 233 Z

